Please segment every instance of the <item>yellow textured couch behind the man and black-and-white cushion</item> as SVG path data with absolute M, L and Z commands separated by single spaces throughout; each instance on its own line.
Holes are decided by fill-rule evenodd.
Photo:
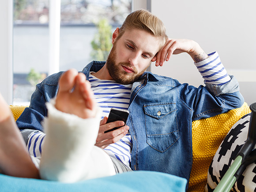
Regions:
M 10 106 L 15 121 L 26 106 Z M 204 192 L 207 171 L 222 140 L 242 116 L 250 113 L 247 103 L 215 117 L 192 122 L 193 166 L 188 192 Z

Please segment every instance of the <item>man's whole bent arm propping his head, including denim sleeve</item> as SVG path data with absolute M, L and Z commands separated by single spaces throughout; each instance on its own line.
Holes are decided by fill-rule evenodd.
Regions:
M 241 107 L 244 99 L 239 92 L 238 82 L 227 74 L 217 52 L 206 55 L 195 41 L 168 39 L 152 61 L 156 61 L 156 66 L 162 66 L 171 55 L 182 52 L 192 57 L 206 85 L 199 88 L 187 84 L 181 86 L 180 98 L 194 111 L 193 120 Z

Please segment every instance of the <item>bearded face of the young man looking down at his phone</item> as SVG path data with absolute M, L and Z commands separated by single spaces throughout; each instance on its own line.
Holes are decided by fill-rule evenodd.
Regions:
M 117 40 L 119 29 L 113 33 L 113 48 L 106 67 L 113 80 L 132 84 L 150 65 L 159 50 L 161 39 L 143 30 L 126 30 Z

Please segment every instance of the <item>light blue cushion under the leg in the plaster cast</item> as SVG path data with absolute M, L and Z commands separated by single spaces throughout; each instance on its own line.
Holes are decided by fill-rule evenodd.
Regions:
M 186 179 L 153 171 L 134 171 L 66 184 L 0 174 L 0 192 L 185 192 Z

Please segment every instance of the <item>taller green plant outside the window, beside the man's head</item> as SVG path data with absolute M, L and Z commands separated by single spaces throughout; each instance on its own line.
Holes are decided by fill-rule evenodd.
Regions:
M 111 43 L 111 25 L 107 19 L 101 19 L 97 25 L 98 33 L 94 35 L 91 46 L 93 48 L 91 56 L 94 60 L 105 61 L 112 48 Z

